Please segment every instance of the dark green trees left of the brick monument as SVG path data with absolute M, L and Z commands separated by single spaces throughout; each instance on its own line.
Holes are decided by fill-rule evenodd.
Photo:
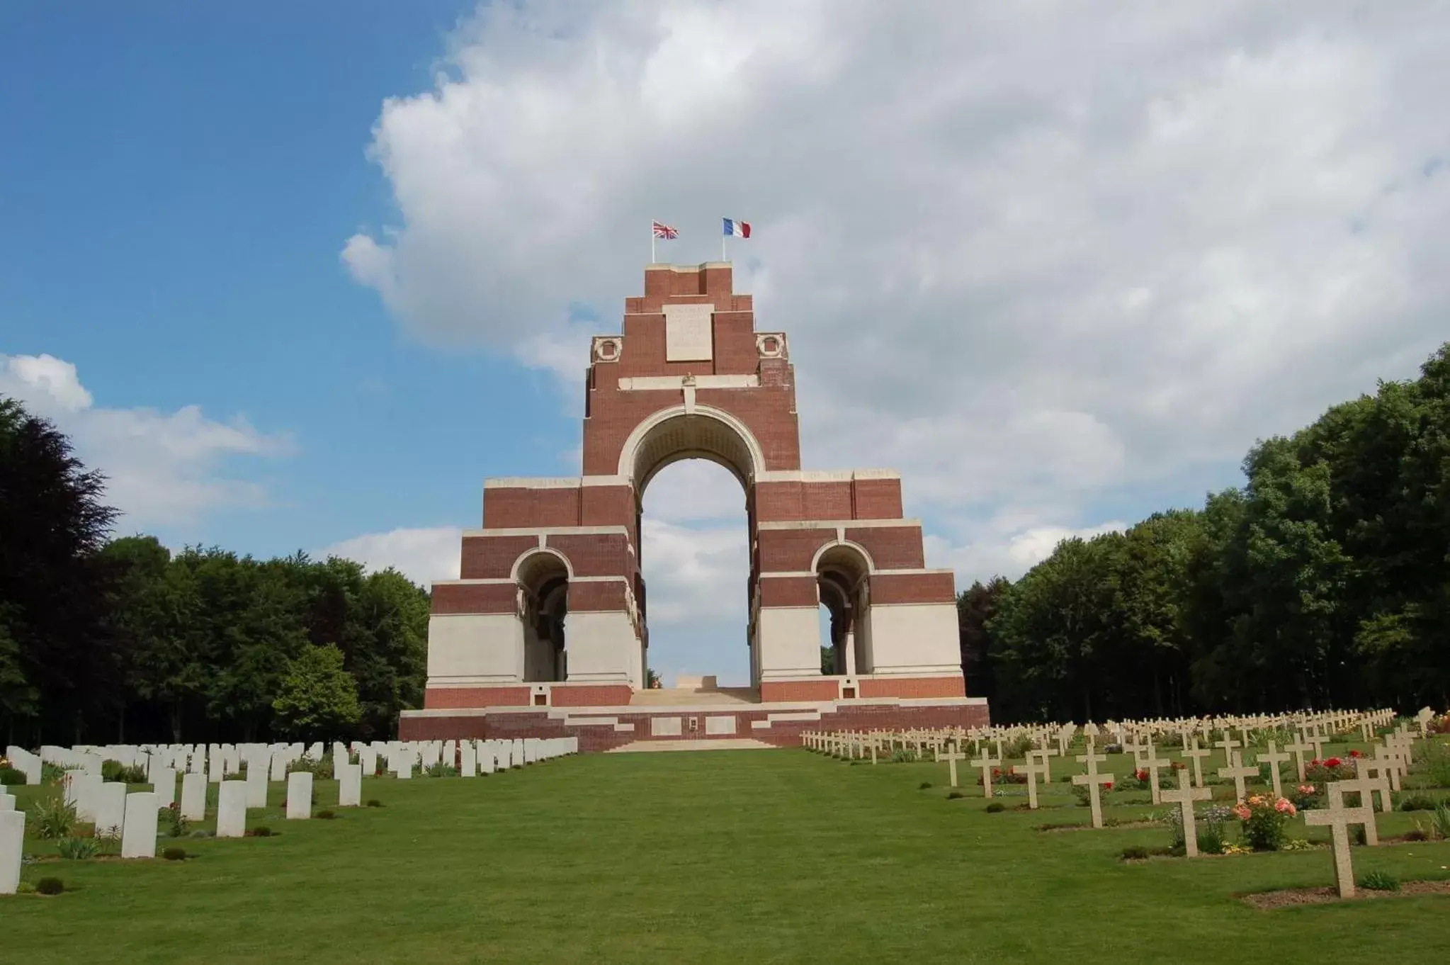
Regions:
M 112 538 L 104 477 L 0 398 L 6 743 L 386 739 L 422 701 L 426 591 L 344 559 Z

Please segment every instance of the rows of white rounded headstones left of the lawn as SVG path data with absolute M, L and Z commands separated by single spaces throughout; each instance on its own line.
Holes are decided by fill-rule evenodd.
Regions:
M 410 778 L 416 760 L 432 759 L 432 763 L 457 760 L 460 775 L 474 778 L 480 773 L 493 773 L 494 771 L 579 753 L 577 737 L 419 743 L 423 746 L 419 747 L 412 742 L 390 742 L 381 747 L 358 746 L 357 763 L 351 762 L 352 753 L 348 747 L 334 743 L 332 771 L 338 781 L 338 807 L 361 805 L 362 775 L 376 773 L 376 755 L 378 753 L 386 756 L 389 769 L 399 778 Z M 316 746 L 316 750 L 315 759 L 320 759 L 320 746 Z M 267 805 L 268 776 L 276 773 L 278 760 L 284 762 L 281 776 L 287 781 L 287 820 L 312 817 L 313 775 L 310 771 L 289 773 L 287 753 L 290 749 L 286 753 L 265 746 L 251 749 L 249 753 L 242 755 L 248 763 L 246 778 L 219 781 L 218 837 L 242 837 L 246 833 L 246 811 Z M 158 755 L 151 757 L 152 760 L 162 759 Z M 175 759 L 173 757 L 173 760 Z M 83 760 L 80 766 L 67 771 L 64 778 L 65 801 L 75 807 L 80 820 L 93 823 L 97 833 L 119 836 L 122 858 L 155 858 L 158 814 L 162 808 L 178 804 L 181 817 L 187 820 L 206 817 L 207 772 L 204 769 L 186 771 L 181 775 L 180 802 L 175 798 L 175 768 L 151 766 L 149 776 L 154 789 L 136 792 L 128 792 L 128 787 L 122 782 L 103 781 L 99 771 L 100 766 L 96 765 L 93 769 L 90 760 Z M 0 894 L 14 894 L 19 887 L 23 845 L 25 814 L 14 810 L 14 797 L 0 794 Z

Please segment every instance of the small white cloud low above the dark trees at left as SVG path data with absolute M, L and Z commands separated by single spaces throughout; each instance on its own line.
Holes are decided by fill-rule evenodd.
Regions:
M 206 511 L 258 506 L 265 489 L 223 475 L 235 456 L 277 456 L 283 435 L 265 435 L 244 418 L 216 422 L 188 405 L 175 412 L 94 405 L 72 363 L 54 356 L 0 354 L 0 395 L 20 399 L 35 415 L 70 435 L 75 454 L 106 476 L 106 502 L 120 525 L 190 522 Z

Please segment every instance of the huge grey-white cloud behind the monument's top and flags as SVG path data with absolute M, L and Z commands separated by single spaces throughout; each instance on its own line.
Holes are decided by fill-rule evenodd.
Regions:
M 696 261 L 747 218 L 811 467 L 899 467 L 1009 563 L 1444 337 L 1447 46 L 1421 3 L 490 4 L 383 104 L 400 221 L 342 258 L 573 405 L 647 222 Z

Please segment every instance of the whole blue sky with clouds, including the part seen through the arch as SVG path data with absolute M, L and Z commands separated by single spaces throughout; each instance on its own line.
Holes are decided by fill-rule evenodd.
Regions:
M 808 469 L 903 472 L 1016 576 L 1198 505 L 1444 337 L 1434 4 L 0 7 L 0 392 L 122 533 L 457 566 L 577 472 L 587 335 L 718 257 L 790 334 Z M 747 257 L 748 255 L 748 257 Z M 745 675 L 741 495 L 647 493 L 651 662 Z

